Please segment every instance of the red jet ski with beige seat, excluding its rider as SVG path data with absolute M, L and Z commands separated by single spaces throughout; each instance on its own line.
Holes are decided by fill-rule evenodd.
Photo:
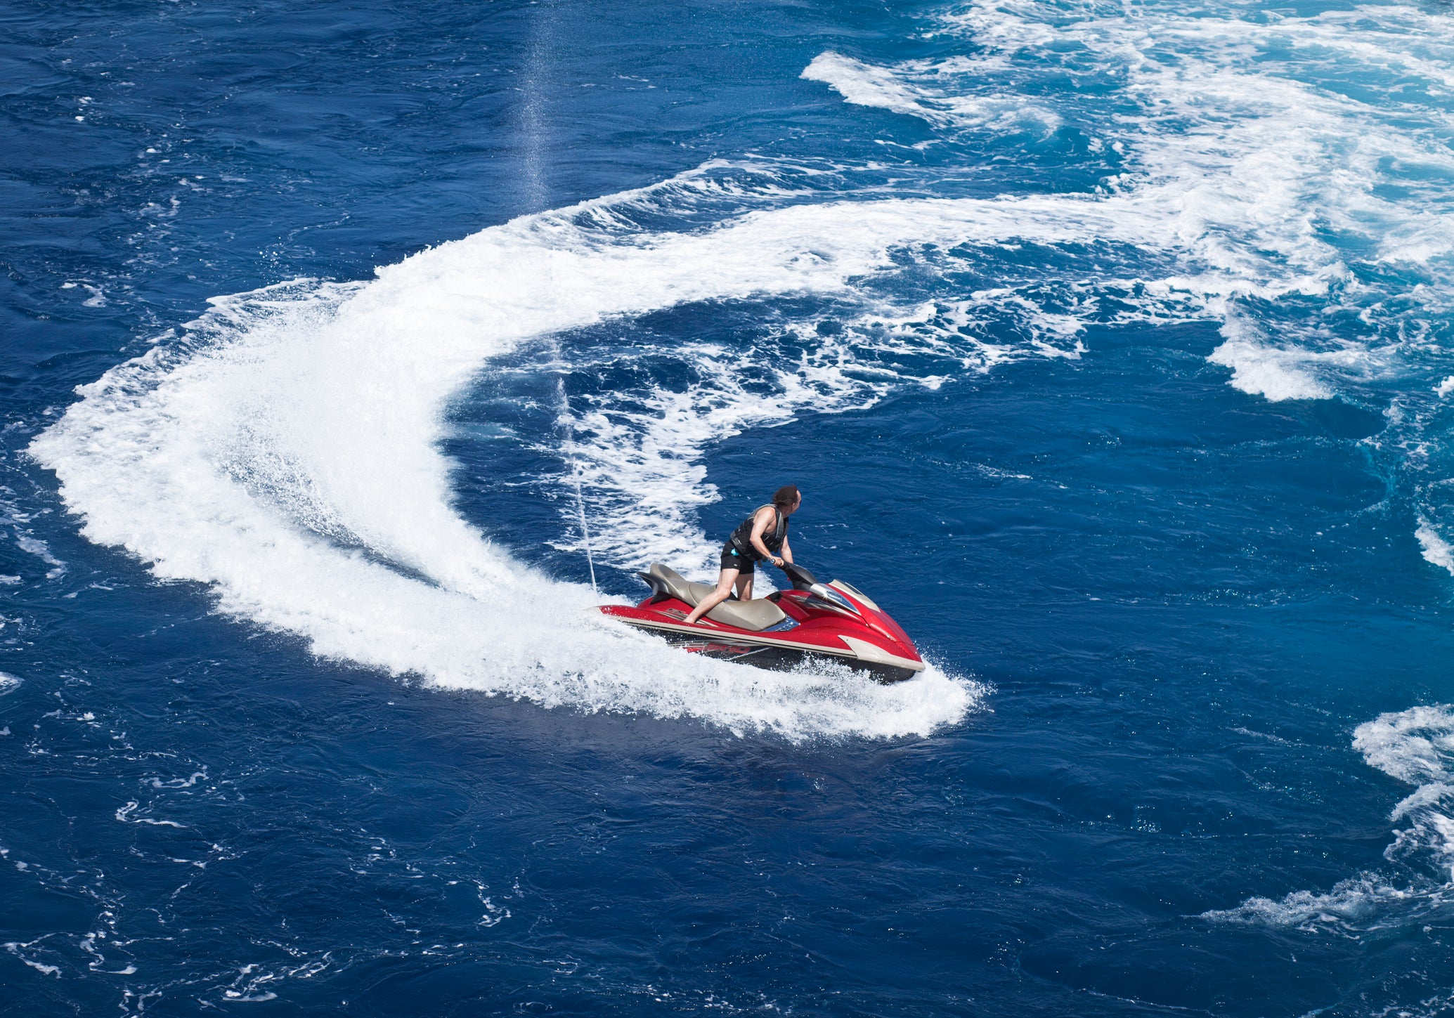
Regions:
M 869 672 L 881 682 L 899 682 L 923 670 L 913 643 L 868 595 L 842 580 L 820 583 L 792 563 L 782 572 L 792 582 L 791 590 L 724 601 L 695 625 L 686 625 L 688 612 L 714 588 L 689 583 L 654 563 L 637 573 L 651 588 L 646 601 L 634 608 L 602 605 L 598 611 L 692 653 L 759 668 L 785 670 L 816 657 Z

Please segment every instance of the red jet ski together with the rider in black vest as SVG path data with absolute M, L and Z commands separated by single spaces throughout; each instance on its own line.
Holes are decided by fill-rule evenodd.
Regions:
M 651 596 L 634 608 L 602 605 L 601 614 L 659 633 L 689 652 L 759 668 L 785 669 L 819 657 L 871 672 L 884 682 L 922 672 L 923 660 L 913 643 L 867 595 L 842 580 L 820 583 L 792 563 L 787 518 L 801 503 L 798 490 L 788 486 L 778 490 L 774 505 L 744 519 L 723 545 L 715 588 L 689 583 L 654 563 L 637 573 L 651 588 Z M 792 589 L 752 601 L 753 567 L 763 560 L 781 567 Z M 737 599 L 730 601 L 733 586 Z

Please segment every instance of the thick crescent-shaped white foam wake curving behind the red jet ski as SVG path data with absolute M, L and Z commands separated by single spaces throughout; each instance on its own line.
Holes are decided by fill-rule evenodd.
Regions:
M 1088 202 L 1073 230 L 1098 230 Z M 1059 236 L 1044 202 L 883 202 L 616 240 L 522 220 L 379 270 L 215 301 L 189 337 L 81 387 L 35 439 L 93 541 L 320 656 L 548 705 L 696 716 L 790 736 L 929 732 L 973 684 L 776 676 L 577 621 L 589 590 L 513 561 L 451 509 L 443 407 L 493 355 L 683 300 L 838 291 L 923 236 Z M 836 225 L 838 228 L 830 228 Z M 554 281 L 570 279 L 563 289 Z

